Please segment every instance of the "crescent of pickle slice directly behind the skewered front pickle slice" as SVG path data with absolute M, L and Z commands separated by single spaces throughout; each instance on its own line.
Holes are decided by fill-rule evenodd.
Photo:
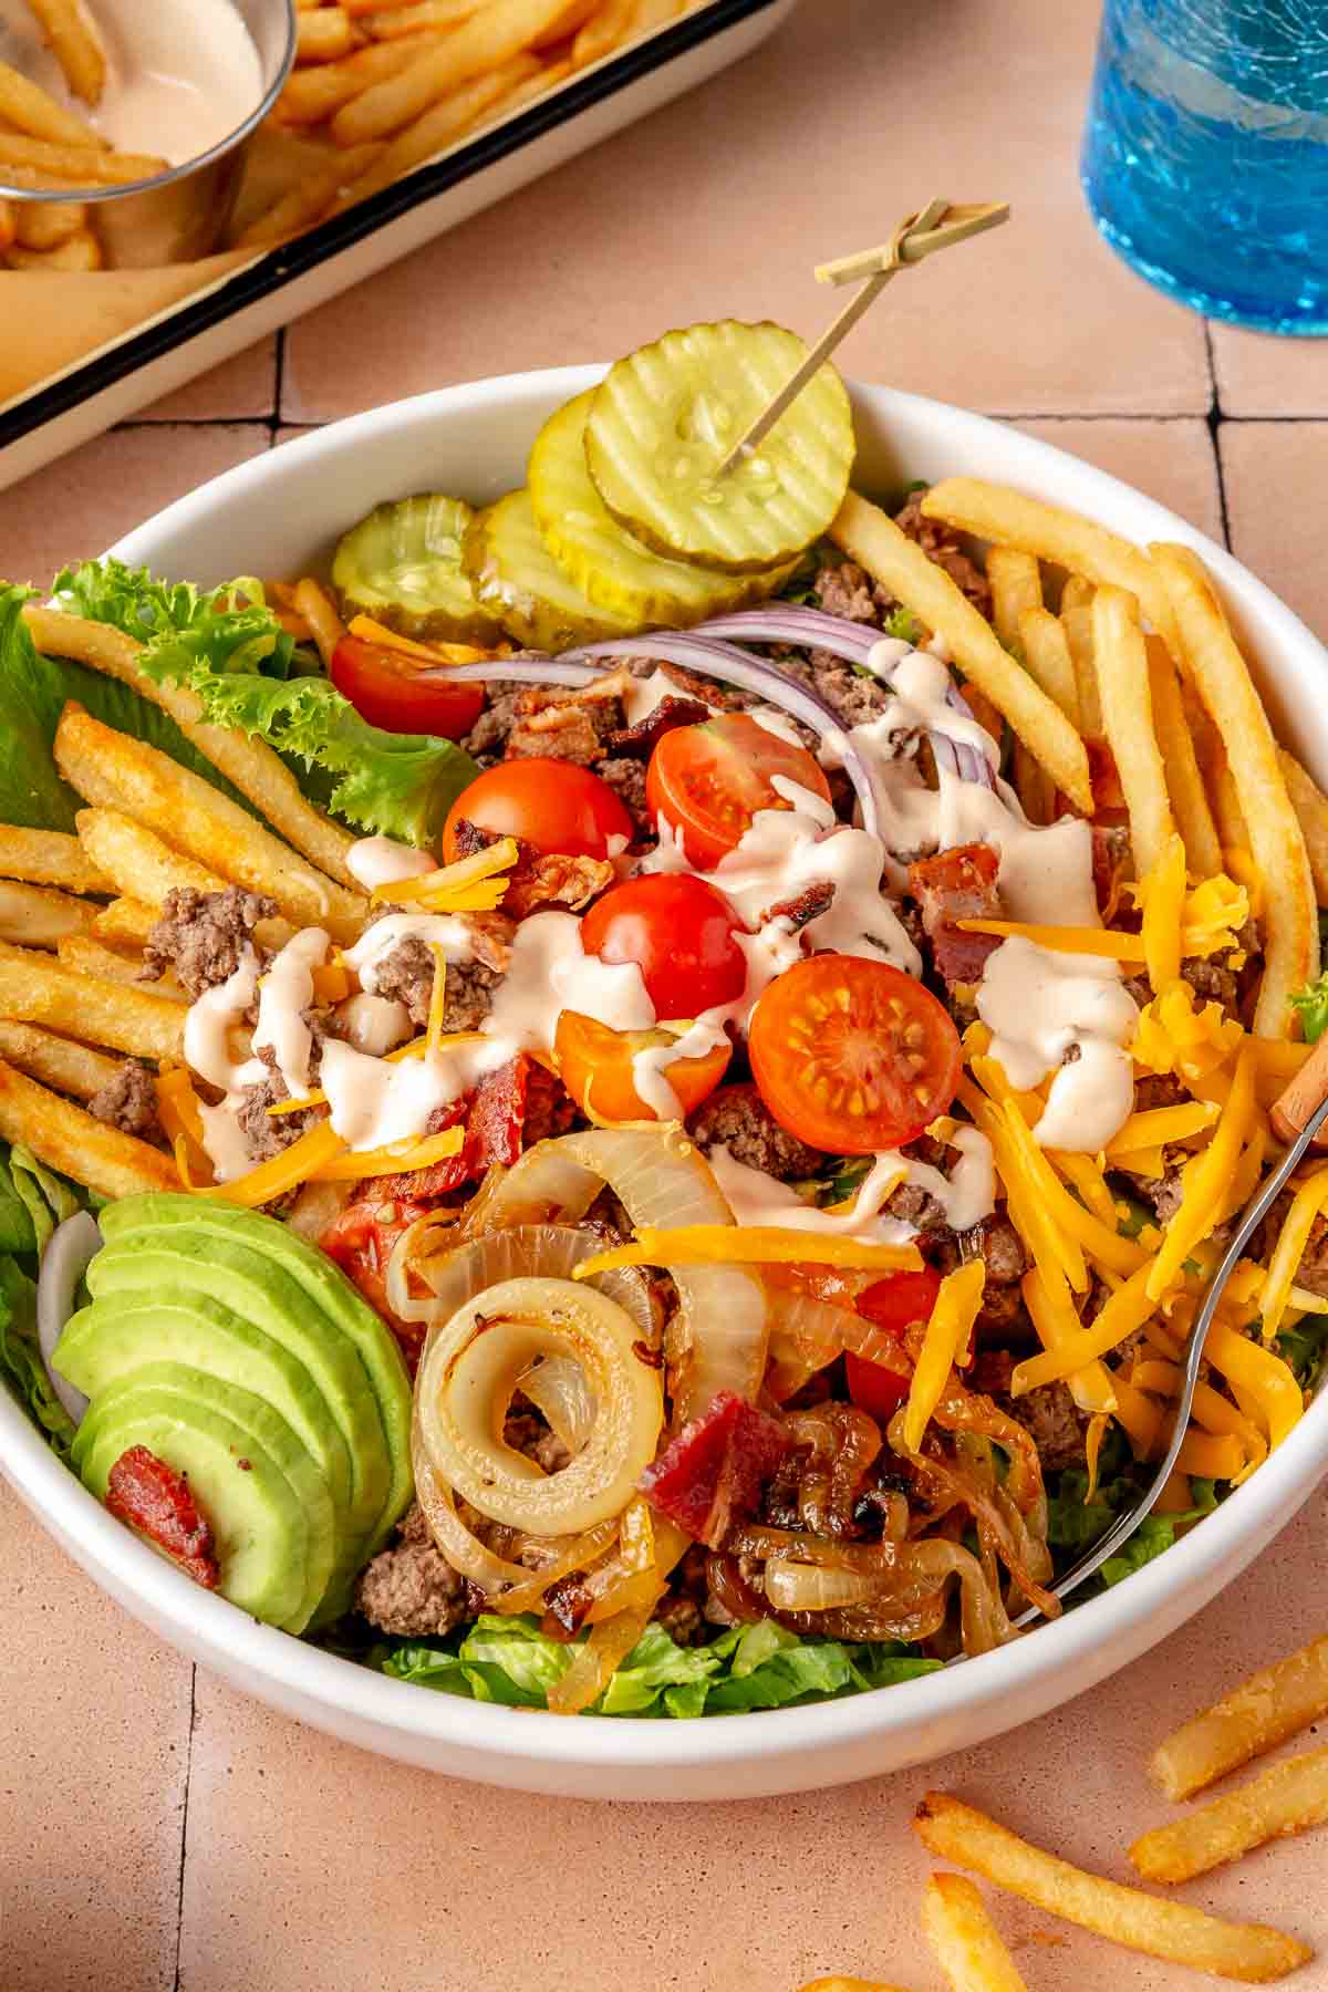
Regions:
M 788 564 L 763 574 L 715 574 L 665 560 L 613 520 L 585 468 L 585 422 L 595 392 L 552 414 L 530 452 L 530 502 L 553 560 L 581 594 L 637 629 L 685 629 L 773 596 Z

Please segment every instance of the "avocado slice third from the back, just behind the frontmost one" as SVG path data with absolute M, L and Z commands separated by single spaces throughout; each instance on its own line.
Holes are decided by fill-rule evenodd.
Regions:
M 350 1454 L 327 1400 L 283 1343 L 223 1301 L 191 1293 L 171 1283 L 165 1255 L 145 1251 L 139 1263 L 157 1279 L 151 1289 L 113 1285 L 98 1261 L 98 1297 L 70 1319 L 60 1337 L 62 1374 L 84 1396 L 100 1398 L 108 1384 L 141 1372 L 151 1363 L 183 1363 L 219 1382 L 239 1384 L 279 1412 L 327 1480 L 334 1514 L 332 1576 L 321 1616 L 340 1616 L 348 1608 L 350 1586 L 364 1564 L 364 1532 L 348 1532 Z M 119 1253 L 125 1257 L 123 1247 Z M 201 1269 L 205 1271 L 205 1269 Z M 227 1287 L 231 1291 L 231 1287 Z

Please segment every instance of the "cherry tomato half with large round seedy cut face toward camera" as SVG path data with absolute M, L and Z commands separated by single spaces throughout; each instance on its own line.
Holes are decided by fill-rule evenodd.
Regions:
M 747 1052 L 775 1120 L 832 1155 L 912 1141 L 946 1112 L 962 1068 L 936 996 L 850 954 L 810 954 L 771 982 Z

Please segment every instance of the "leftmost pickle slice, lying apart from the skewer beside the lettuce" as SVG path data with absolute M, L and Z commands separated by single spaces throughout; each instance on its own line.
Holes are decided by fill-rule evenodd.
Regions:
M 340 612 L 432 643 L 498 643 L 500 620 L 480 606 L 462 572 L 474 518 L 462 498 L 422 492 L 378 504 L 336 548 L 332 588 Z

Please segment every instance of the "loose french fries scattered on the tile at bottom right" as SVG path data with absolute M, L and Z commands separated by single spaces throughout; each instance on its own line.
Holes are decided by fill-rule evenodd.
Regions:
M 1157 1745 L 1149 1777 L 1173 1803 L 1290 1741 L 1328 1715 L 1328 1633 L 1260 1667 Z M 1143 1880 L 1175 1884 L 1328 1823 L 1328 1749 L 1282 1757 L 1209 1805 L 1145 1833 L 1129 1849 Z M 972 1805 L 928 1791 L 914 1831 L 942 1861 L 982 1874 L 1049 1916 L 1077 1922 L 1127 1950 L 1189 1964 L 1238 1984 L 1268 1984 L 1314 1956 L 1260 1922 L 1226 1922 L 1189 1902 L 1147 1894 L 1071 1867 Z M 936 1872 L 922 1892 L 922 1928 L 954 1992 L 1027 1992 L 982 1894 L 962 1874 Z M 1135 1980 L 1131 1978 L 1131 1984 Z M 802 1992 L 900 1992 L 868 1978 L 818 1978 Z

